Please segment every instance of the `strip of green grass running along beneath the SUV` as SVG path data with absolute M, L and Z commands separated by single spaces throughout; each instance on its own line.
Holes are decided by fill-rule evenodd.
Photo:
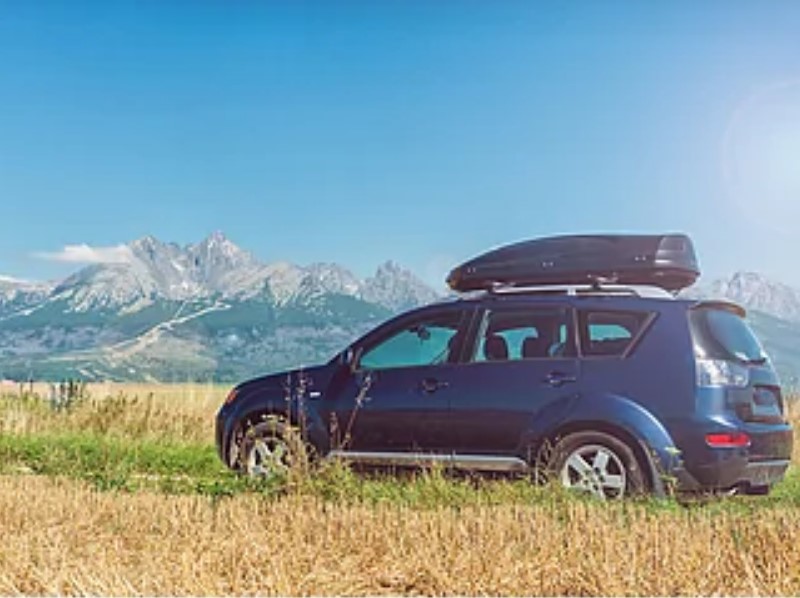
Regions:
M 213 446 L 103 436 L 96 432 L 0 434 L 0 473 L 38 474 L 87 481 L 101 491 L 157 491 L 199 494 L 213 500 L 242 493 L 272 499 L 293 493 L 331 503 L 391 504 L 415 508 L 541 505 L 563 510 L 567 504 L 596 502 L 558 485 L 539 486 L 527 478 L 452 475 L 440 469 L 422 472 L 356 473 L 326 463 L 302 476 L 253 480 L 222 465 Z M 688 510 L 706 514 L 754 513 L 771 507 L 800 507 L 800 471 L 792 468 L 769 497 L 693 499 L 641 498 L 630 506 L 653 512 Z

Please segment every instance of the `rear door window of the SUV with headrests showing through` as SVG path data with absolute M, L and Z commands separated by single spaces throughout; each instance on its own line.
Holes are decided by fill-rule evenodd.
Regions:
M 472 361 L 553 359 L 573 354 L 568 310 L 514 307 L 486 312 Z

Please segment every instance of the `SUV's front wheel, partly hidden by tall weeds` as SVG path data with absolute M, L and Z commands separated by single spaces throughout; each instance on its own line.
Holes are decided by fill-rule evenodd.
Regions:
M 238 458 L 239 470 L 250 477 L 271 479 L 305 472 L 308 453 L 297 429 L 279 418 L 246 428 Z

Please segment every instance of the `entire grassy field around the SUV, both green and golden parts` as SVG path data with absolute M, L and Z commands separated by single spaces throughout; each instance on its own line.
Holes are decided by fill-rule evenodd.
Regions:
M 0 397 L 0 594 L 800 593 L 797 468 L 769 497 L 688 505 L 436 471 L 264 484 L 217 460 L 226 390 Z

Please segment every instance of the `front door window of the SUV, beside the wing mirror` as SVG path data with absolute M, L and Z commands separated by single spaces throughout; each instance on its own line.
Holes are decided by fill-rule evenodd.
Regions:
M 452 361 L 461 338 L 458 332 L 462 320 L 460 311 L 414 320 L 367 348 L 359 360 L 359 367 L 385 370 Z

